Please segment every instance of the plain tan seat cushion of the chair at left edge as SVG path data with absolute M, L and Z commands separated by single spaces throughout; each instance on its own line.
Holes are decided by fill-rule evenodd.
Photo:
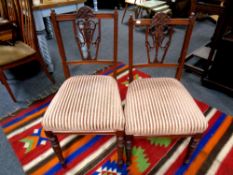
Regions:
M 0 66 L 3 66 L 30 56 L 36 51 L 27 44 L 17 41 L 14 46 L 0 45 L 0 53 Z

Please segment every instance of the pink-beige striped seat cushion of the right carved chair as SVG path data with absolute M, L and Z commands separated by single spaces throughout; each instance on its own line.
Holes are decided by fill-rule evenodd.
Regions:
M 185 87 L 174 78 L 133 81 L 125 104 L 125 132 L 135 136 L 202 133 L 207 121 Z

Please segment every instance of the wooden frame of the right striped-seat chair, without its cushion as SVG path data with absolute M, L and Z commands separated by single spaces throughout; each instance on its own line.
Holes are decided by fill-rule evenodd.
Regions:
M 161 15 L 161 18 L 156 18 L 156 15 Z M 192 34 L 192 29 L 194 26 L 195 22 L 195 15 L 191 15 L 190 18 L 169 18 L 168 15 L 162 14 L 162 13 L 157 13 L 152 19 L 138 19 L 135 20 L 131 16 L 128 22 L 128 32 L 129 32 L 129 80 L 130 82 L 133 81 L 133 68 L 143 68 L 143 67 L 167 67 L 167 68 L 176 68 L 176 75 L 175 78 L 180 80 L 181 75 L 182 75 L 182 69 L 184 66 L 185 62 L 185 57 L 187 54 L 191 34 Z M 180 57 L 178 59 L 178 63 L 168 63 L 164 62 L 165 56 L 167 49 L 170 45 L 170 39 L 173 35 L 173 26 L 186 26 L 186 33 L 182 45 L 182 50 L 180 53 Z M 146 48 L 147 48 L 147 63 L 142 63 L 142 64 L 134 64 L 133 62 L 133 43 L 134 43 L 134 28 L 135 27 L 146 27 L 146 33 L 145 33 L 145 38 L 146 38 Z M 167 28 L 168 35 L 164 35 L 164 29 Z M 157 28 L 155 32 L 152 32 L 150 29 L 155 29 Z M 152 35 L 154 36 L 153 40 L 153 46 L 148 44 L 148 37 Z M 163 37 L 168 37 L 168 42 L 164 44 L 163 46 L 161 45 L 160 42 L 157 42 L 156 39 L 162 39 Z M 148 46 L 149 45 L 149 46 Z M 151 60 L 151 58 L 148 56 L 150 53 L 150 49 L 152 47 L 155 50 L 164 50 L 164 54 L 162 54 L 162 57 L 159 58 L 158 55 L 155 55 L 155 59 Z M 166 46 L 166 47 L 164 47 Z M 190 149 L 187 154 L 186 158 L 186 163 L 189 162 L 190 155 L 193 153 L 195 150 L 200 138 L 201 134 L 193 134 L 193 135 L 159 135 L 159 137 L 171 137 L 171 138 L 182 138 L 182 137 L 188 137 L 192 136 L 191 142 L 190 142 Z M 151 137 L 151 136 L 133 136 L 133 135 L 126 135 L 125 136 L 125 148 L 126 148 L 126 163 L 129 165 L 131 163 L 131 152 L 132 152 L 132 142 L 134 137 Z

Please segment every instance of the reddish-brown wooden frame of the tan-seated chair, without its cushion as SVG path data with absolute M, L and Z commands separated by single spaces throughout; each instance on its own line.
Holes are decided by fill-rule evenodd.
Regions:
M 55 83 L 55 81 L 53 77 L 50 75 L 50 73 L 48 72 L 47 66 L 39 51 L 39 46 L 38 46 L 37 37 L 35 33 L 35 24 L 34 24 L 33 15 L 32 15 L 32 9 L 31 9 L 32 7 L 31 0 L 8 0 L 8 1 L 9 1 L 8 6 L 9 6 L 9 3 L 11 3 L 10 7 L 14 8 L 14 9 L 8 10 L 8 16 L 10 15 L 9 19 L 12 20 L 13 22 L 16 20 L 19 23 L 20 34 L 21 34 L 20 40 L 23 41 L 28 46 L 30 46 L 31 48 L 33 48 L 34 50 L 36 50 L 36 53 L 33 55 L 29 55 L 18 61 L 0 66 L 0 81 L 6 87 L 13 101 L 16 102 L 17 100 L 7 82 L 6 75 L 4 74 L 5 70 L 23 65 L 33 60 L 36 60 L 40 63 L 41 68 L 43 69 L 47 77 L 53 83 Z M 18 19 L 17 17 L 20 17 L 20 19 Z

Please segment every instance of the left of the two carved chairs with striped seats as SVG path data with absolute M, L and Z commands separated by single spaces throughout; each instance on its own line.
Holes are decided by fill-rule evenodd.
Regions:
M 69 63 L 103 63 L 117 66 L 118 13 L 116 10 L 114 13 L 94 14 L 89 7 L 81 7 L 74 14 L 56 15 L 53 11 L 51 17 L 66 78 L 70 75 L 67 65 Z M 94 38 L 94 33 L 101 27 L 101 19 L 112 20 L 114 24 L 112 33 L 114 58 L 102 62 L 97 59 L 100 35 L 97 35 L 97 39 Z M 66 61 L 65 43 L 62 41 L 59 28 L 59 23 L 63 21 L 71 22 L 80 52 L 82 52 L 82 46 L 87 47 L 87 57 L 84 58 L 81 53 L 81 61 Z M 78 32 L 82 35 L 82 40 L 78 37 Z M 98 30 L 97 34 L 99 34 Z M 90 51 L 92 45 L 96 48 L 94 56 Z M 67 79 L 53 98 L 42 120 L 45 133 L 52 142 L 54 152 L 63 166 L 65 166 L 64 157 L 55 135 L 59 133 L 116 135 L 118 163 L 122 165 L 124 123 L 117 82 L 113 77 L 103 75 L 78 75 Z

